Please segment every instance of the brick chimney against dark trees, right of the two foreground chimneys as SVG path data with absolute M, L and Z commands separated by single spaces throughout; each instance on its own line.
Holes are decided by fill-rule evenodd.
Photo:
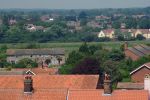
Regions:
M 104 77 L 104 95 L 111 95 L 112 87 L 111 87 L 111 80 L 110 75 L 105 73 Z

